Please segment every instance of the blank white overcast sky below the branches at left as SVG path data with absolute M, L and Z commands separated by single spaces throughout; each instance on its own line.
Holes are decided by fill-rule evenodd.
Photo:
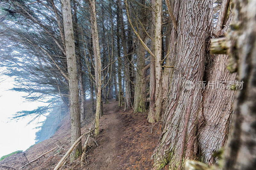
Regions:
M 43 102 L 27 102 L 22 98 L 24 92 L 10 91 L 14 87 L 12 78 L 0 76 L 0 158 L 17 150 L 25 151 L 35 144 L 35 133 L 39 129 L 37 120 L 28 124 L 31 117 L 12 120 L 10 117 L 18 111 L 33 110 L 38 106 L 45 106 Z M 39 121 L 45 119 L 43 116 Z

